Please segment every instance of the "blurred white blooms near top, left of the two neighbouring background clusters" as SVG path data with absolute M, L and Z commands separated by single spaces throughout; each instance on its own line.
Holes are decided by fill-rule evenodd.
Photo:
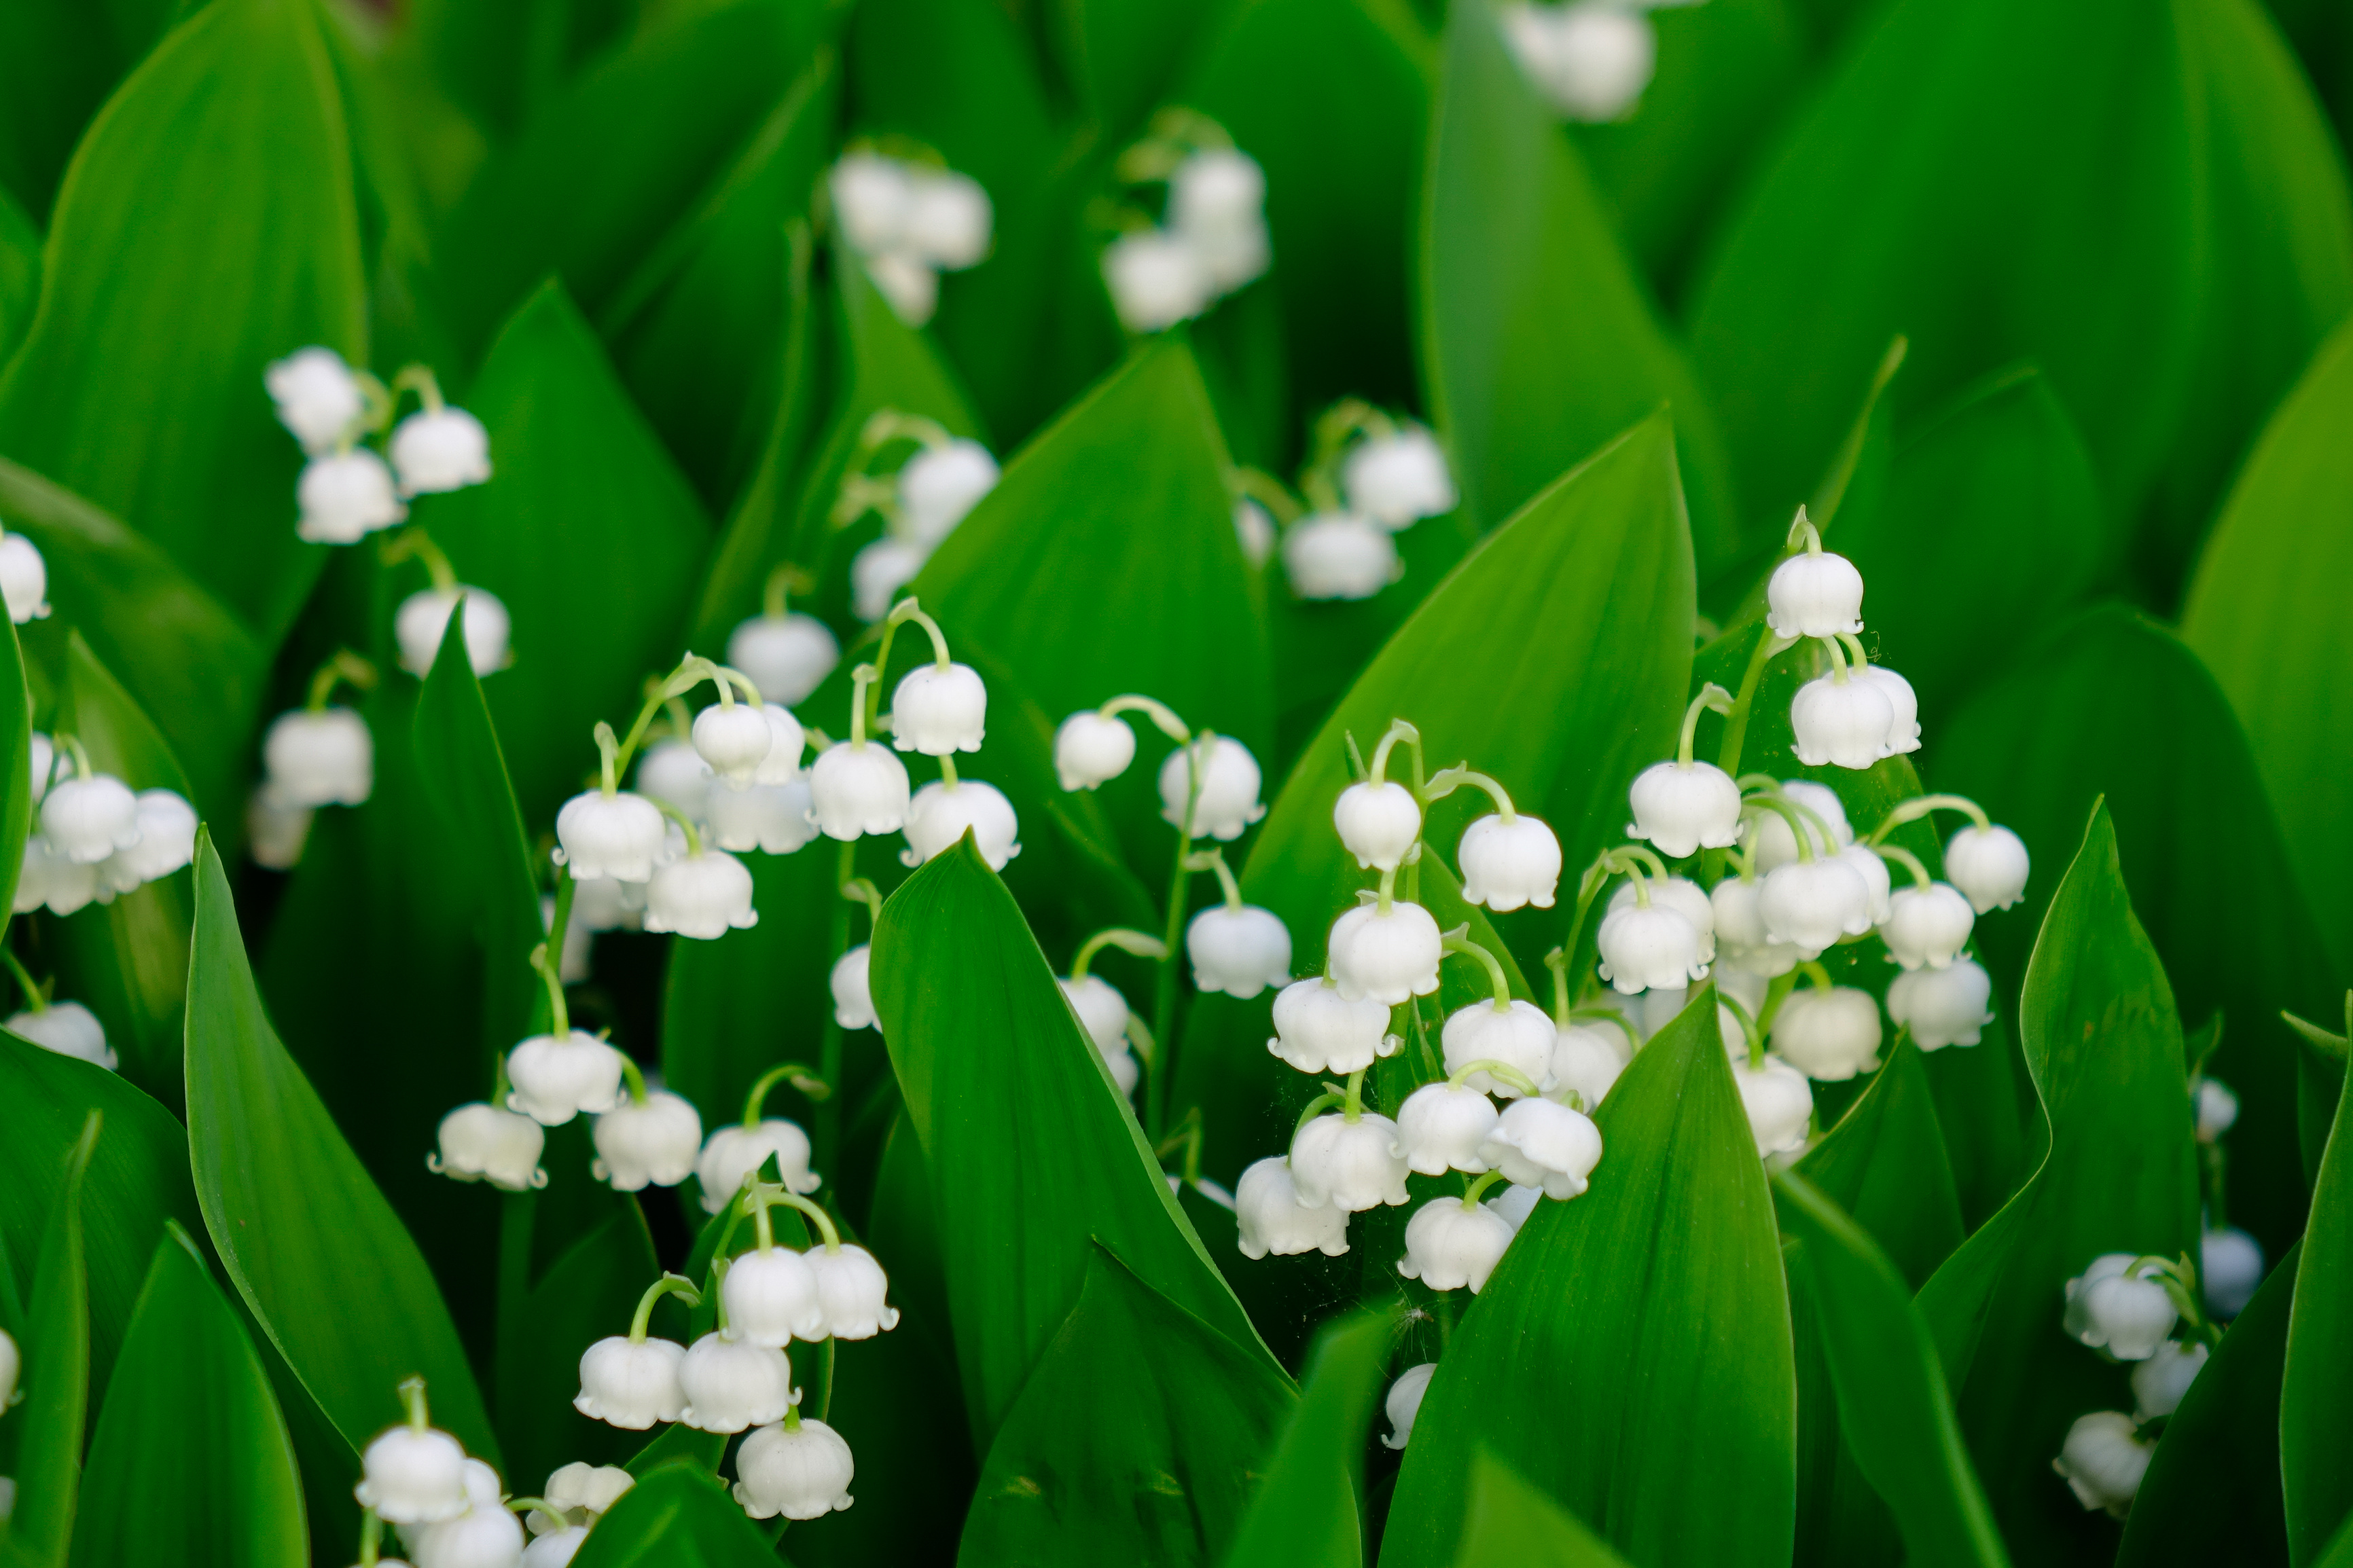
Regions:
M 826 174 L 833 228 L 908 327 L 939 310 L 939 275 L 988 256 L 993 209 L 969 174 L 854 146 Z

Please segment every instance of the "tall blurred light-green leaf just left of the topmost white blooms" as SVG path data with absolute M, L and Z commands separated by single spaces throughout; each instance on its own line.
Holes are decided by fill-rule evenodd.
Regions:
M 1452 12 L 1428 160 L 1421 367 L 1454 449 L 1461 527 L 1492 529 L 1666 402 L 1692 538 L 1713 571 L 1739 529 L 1713 418 L 1487 7 Z

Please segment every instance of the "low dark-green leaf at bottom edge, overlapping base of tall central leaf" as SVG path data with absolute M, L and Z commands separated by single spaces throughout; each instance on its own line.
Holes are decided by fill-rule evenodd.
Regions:
M 981 1465 L 955 1561 L 1217 1563 L 1294 1403 L 1264 1354 L 1089 1246 L 1078 1305 Z

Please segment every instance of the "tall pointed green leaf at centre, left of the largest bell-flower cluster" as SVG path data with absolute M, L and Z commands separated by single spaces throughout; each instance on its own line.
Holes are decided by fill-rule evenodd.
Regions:
M 1273 1368 L 969 837 L 882 907 L 873 994 L 932 1171 L 976 1446 L 1071 1312 L 1096 1239 Z

